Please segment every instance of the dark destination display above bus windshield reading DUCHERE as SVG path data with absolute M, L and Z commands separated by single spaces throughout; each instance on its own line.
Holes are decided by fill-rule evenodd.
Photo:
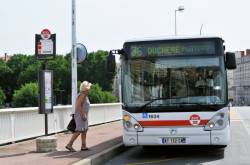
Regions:
M 129 43 L 125 48 L 130 58 L 158 57 L 175 55 L 208 55 L 215 54 L 213 41 L 188 42 L 149 42 Z

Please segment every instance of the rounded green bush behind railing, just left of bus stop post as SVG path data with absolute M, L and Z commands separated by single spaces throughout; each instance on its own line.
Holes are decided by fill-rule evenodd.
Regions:
M 28 83 L 19 90 L 15 90 L 13 96 L 13 107 L 33 107 L 38 106 L 38 85 Z

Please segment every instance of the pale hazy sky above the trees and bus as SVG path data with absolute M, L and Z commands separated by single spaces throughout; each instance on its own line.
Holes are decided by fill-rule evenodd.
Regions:
M 226 51 L 250 48 L 249 0 L 76 0 L 77 42 L 88 52 L 120 49 L 126 40 L 216 35 Z M 57 54 L 71 50 L 71 0 L 0 0 L 0 56 L 34 54 L 35 34 L 57 35 Z M 202 29 L 201 29 L 202 27 Z

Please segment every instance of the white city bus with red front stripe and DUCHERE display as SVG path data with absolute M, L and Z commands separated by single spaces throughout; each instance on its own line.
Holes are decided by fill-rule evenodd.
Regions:
M 216 36 L 126 41 L 120 55 L 125 146 L 213 145 L 230 141 L 227 69 L 235 54 Z

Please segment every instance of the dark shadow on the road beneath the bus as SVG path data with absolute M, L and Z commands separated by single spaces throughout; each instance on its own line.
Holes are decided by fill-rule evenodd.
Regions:
M 211 146 L 137 146 L 127 147 L 126 152 L 105 165 L 198 165 L 223 158 L 224 149 Z

